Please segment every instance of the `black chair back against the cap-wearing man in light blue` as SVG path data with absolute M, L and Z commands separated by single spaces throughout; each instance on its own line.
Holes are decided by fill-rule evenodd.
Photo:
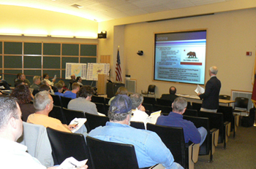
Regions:
M 95 169 L 138 169 L 135 148 L 131 144 L 118 144 L 86 137 Z

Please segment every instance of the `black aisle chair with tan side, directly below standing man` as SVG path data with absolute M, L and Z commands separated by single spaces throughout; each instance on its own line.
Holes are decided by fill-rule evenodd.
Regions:
M 218 143 L 223 143 L 223 149 L 226 149 L 227 137 L 230 136 L 230 122 L 224 122 L 222 113 L 211 113 L 206 111 L 199 111 L 199 117 L 207 117 L 210 121 L 211 128 L 219 129 Z

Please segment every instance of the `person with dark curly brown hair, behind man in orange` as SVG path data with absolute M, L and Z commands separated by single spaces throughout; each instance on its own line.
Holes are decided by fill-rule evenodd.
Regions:
M 34 109 L 34 105 L 31 104 L 31 93 L 29 90 L 29 86 L 26 84 L 20 84 L 12 90 L 11 96 L 17 98 L 17 102 L 20 106 L 20 110 L 22 112 L 22 120 L 26 122 L 30 114 L 36 112 Z

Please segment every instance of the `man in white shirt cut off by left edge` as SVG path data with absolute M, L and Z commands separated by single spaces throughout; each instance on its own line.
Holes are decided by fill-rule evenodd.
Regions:
M 46 169 L 39 160 L 26 152 L 26 146 L 16 142 L 23 133 L 23 123 L 20 107 L 14 98 L 8 96 L 0 98 L 0 117 L 0 168 Z M 79 169 L 86 168 L 87 165 Z

